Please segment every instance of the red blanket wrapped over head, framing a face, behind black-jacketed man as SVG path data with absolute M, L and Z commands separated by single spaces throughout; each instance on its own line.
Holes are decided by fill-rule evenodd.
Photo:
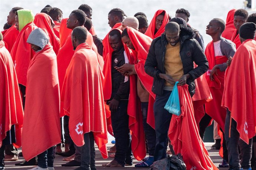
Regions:
M 163 23 L 162 23 L 160 29 L 157 31 L 157 33 L 155 33 L 155 20 L 156 20 L 157 16 L 159 16 L 162 12 L 165 12 L 164 13 L 164 20 L 163 20 Z M 151 20 L 150 25 L 148 26 L 147 31 L 145 32 L 145 35 L 148 35 L 148 37 L 150 37 L 152 39 L 161 36 L 161 34 L 164 33 L 164 27 L 168 22 L 169 22 L 169 14 L 167 13 L 167 11 L 157 10 L 155 12 L 155 15 L 154 15 L 153 19 Z

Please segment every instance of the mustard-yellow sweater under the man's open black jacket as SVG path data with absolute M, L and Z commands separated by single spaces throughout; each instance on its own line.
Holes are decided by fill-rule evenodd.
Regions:
M 171 46 L 169 43 L 166 45 L 166 53 L 164 59 L 165 74 L 171 75 L 175 81 L 178 81 L 184 75 L 183 64 L 180 58 L 180 43 Z M 165 82 L 165 86 L 172 86 Z

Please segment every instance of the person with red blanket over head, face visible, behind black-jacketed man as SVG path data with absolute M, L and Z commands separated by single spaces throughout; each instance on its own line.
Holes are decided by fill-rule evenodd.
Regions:
M 169 22 L 169 14 L 165 10 L 157 10 L 148 26 L 145 35 L 154 39 L 164 33 L 164 27 Z

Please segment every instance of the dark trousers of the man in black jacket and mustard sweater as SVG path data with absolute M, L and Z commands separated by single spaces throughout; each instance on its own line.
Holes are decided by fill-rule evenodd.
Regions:
M 157 140 L 155 144 L 154 161 L 166 158 L 167 133 L 171 122 L 172 114 L 164 109 L 171 91 L 164 90 L 163 95 L 157 95 L 154 103 L 155 133 Z

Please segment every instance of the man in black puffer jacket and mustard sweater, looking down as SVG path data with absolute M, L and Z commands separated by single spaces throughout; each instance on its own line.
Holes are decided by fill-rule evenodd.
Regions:
M 170 22 L 165 33 L 152 41 L 145 72 L 154 77 L 152 92 L 156 94 L 154 103 L 155 131 L 157 135 L 154 161 L 166 157 L 167 132 L 171 113 L 164 106 L 178 85 L 188 84 L 190 95 L 195 93 L 194 80 L 208 70 L 208 62 L 198 42 L 193 39 L 194 32 L 189 27 Z M 198 67 L 194 68 L 195 62 Z

